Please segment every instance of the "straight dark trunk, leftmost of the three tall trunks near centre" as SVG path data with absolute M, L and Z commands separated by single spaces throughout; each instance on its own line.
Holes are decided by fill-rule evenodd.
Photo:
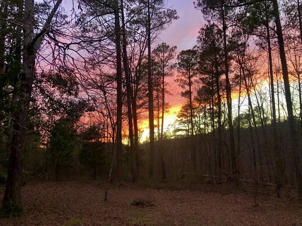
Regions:
M 119 1 L 115 0 L 114 20 L 115 20 L 115 45 L 116 45 L 116 80 L 117 80 L 117 108 L 116 108 L 116 170 L 117 183 L 123 180 L 123 145 L 122 145 L 122 60 L 121 60 L 121 37 L 119 21 Z

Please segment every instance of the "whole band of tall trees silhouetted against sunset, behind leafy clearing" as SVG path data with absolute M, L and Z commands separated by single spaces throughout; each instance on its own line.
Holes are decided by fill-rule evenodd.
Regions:
M 177 53 L 156 43 L 178 19 L 163 0 L 0 2 L 5 211 L 21 204 L 22 165 L 49 179 L 77 170 L 96 178 L 103 161 L 117 183 L 125 172 L 135 182 L 189 170 L 236 186 L 269 180 L 277 196 L 291 183 L 302 198 L 299 2 L 194 6 L 207 23 L 196 46 Z M 171 134 L 169 76 L 187 100 Z M 147 149 L 139 144 L 145 114 Z

